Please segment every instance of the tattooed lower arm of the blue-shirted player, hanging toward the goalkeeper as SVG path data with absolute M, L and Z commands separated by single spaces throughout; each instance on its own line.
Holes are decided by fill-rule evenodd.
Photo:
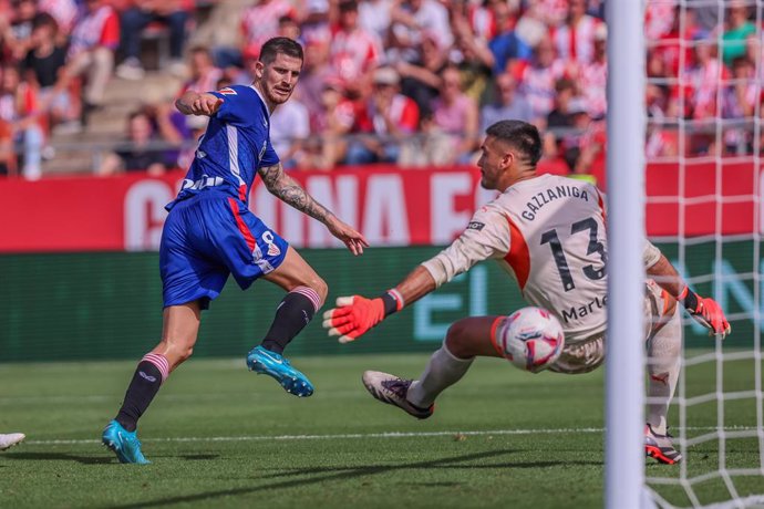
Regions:
M 280 163 L 275 166 L 259 168 L 258 173 L 262 178 L 262 183 L 273 196 L 313 219 L 323 222 L 331 235 L 340 239 L 353 254 L 363 254 L 363 248 L 369 247 L 366 238 L 350 225 L 338 219 L 323 205 L 316 201 L 302 188 L 300 183 L 287 175 Z

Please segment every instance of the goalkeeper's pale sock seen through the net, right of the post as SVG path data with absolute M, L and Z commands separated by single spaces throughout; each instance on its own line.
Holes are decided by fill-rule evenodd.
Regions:
M 665 435 L 669 405 L 679 382 L 682 354 L 682 321 L 679 310 L 648 344 L 648 424 Z

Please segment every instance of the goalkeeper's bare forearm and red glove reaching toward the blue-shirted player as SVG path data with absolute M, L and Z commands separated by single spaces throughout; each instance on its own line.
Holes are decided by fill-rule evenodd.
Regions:
M 349 343 L 435 288 L 430 271 L 417 266 L 395 288 L 375 299 L 361 295 L 338 298 L 337 308 L 323 313 L 323 326 L 330 336 L 339 336 L 340 343 Z

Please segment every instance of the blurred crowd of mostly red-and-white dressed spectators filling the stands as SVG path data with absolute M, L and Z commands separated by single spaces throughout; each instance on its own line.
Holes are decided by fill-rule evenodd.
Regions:
M 288 168 L 471 163 L 500 118 L 536 124 L 545 158 L 572 173 L 605 159 L 606 0 L 259 0 L 241 7 L 238 43 L 192 45 L 197 4 L 0 0 L 0 173 L 40 177 L 51 129 L 86 127 L 110 80 L 145 76 L 142 37 L 157 23 L 158 72 L 183 76 L 178 94 L 250 83 L 271 37 L 303 44 L 297 92 L 271 120 Z M 753 0 L 649 0 L 649 157 L 762 146 L 757 22 Z M 144 104 L 99 170 L 185 166 L 203 121 Z

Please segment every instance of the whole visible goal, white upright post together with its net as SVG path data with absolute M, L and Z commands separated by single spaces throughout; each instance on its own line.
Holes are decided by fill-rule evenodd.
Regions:
M 648 6 L 659 7 L 651 12 L 653 21 L 655 12 L 677 20 L 667 35 L 670 42 L 646 37 Z M 747 32 L 740 29 L 740 12 L 745 13 Z M 698 22 L 701 14 L 703 23 Z M 764 0 L 609 0 L 606 15 L 605 505 L 764 508 Z M 741 40 L 744 53 L 733 54 L 732 44 L 740 50 Z M 647 55 L 654 58 L 651 52 L 660 44 L 672 45 L 678 70 L 648 77 L 652 62 Z M 651 87 L 671 91 L 667 97 L 674 94 L 675 110 L 668 114 L 665 107 L 664 116 L 657 118 L 653 112 L 648 117 Z M 705 108 L 700 114 L 699 104 Z M 675 150 L 648 152 L 646 134 L 662 129 L 670 132 L 667 139 L 673 136 Z M 647 146 L 654 148 L 650 139 Z M 648 197 L 646 176 L 648 168 L 654 170 L 652 163 L 673 172 L 661 181 L 675 175 L 670 195 Z M 704 184 L 699 187 L 701 175 Z M 675 224 L 671 233 L 660 233 L 672 250 L 667 256 L 692 288 L 722 305 L 733 334 L 724 343 L 705 339 L 702 328 L 683 314 L 686 342 L 670 413 L 683 461 L 650 465 L 646 471 L 644 406 L 654 402 L 644 396 L 649 360 L 641 323 L 641 252 L 646 218 L 652 217 L 646 210 L 655 205 L 672 210 L 664 219 Z M 704 215 L 703 228 L 693 217 L 699 214 Z

